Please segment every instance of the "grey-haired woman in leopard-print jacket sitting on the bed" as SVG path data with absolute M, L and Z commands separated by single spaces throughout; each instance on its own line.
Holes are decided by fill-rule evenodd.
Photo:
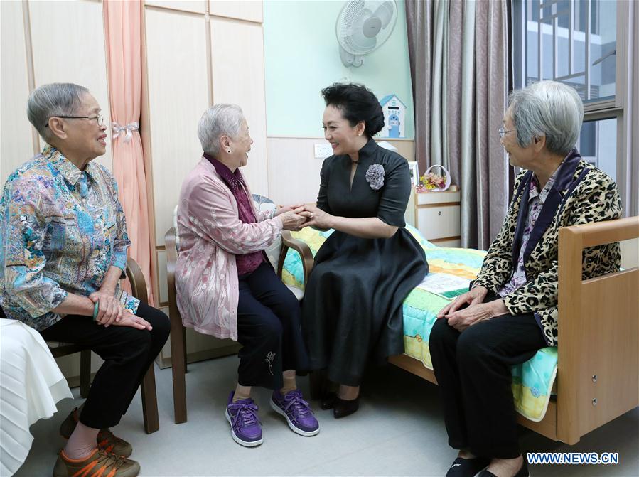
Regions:
M 449 444 L 446 476 L 528 476 L 510 366 L 557 345 L 559 228 L 621 217 L 614 181 L 581 159 L 576 91 L 543 81 L 512 92 L 500 129 L 517 177 L 503 226 L 471 290 L 442 309 L 429 338 Z M 584 252 L 583 277 L 616 272 L 618 243 Z M 482 471 L 482 469 L 485 470 Z

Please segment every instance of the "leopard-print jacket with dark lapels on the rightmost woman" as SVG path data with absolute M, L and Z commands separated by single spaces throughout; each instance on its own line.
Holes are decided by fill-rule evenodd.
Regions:
M 490 245 L 473 286 L 497 291 L 508 282 L 520 254 L 532 171 L 517 176 L 517 191 L 500 232 Z M 512 315 L 534 313 L 548 345 L 557 346 L 557 292 L 559 228 L 621 217 L 621 198 L 616 183 L 573 149 L 564 160 L 524 254 L 527 283 L 504 297 Z M 619 243 L 584 250 L 582 278 L 617 272 L 621 263 Z

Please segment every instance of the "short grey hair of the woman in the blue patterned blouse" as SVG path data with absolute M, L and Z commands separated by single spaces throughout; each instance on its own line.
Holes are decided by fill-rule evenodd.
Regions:
M 26 114 L 42 139 L 50 139 L 50 131 L 45 127 L 52 116 L 72 116 L 82 104 L 82 96 L 89 90 L 70 82 L 54 82 L 37 87 L 27 101 Z

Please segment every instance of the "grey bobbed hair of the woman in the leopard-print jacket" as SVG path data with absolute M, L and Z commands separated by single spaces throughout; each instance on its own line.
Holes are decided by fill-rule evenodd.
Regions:
M 511 92 L 509 109 L 520 147 L 546 136 L 546 148 L 562 156 L 574 148 L 584 121 L 584 104 L 576 90 L 557 81 L 540 81 Z

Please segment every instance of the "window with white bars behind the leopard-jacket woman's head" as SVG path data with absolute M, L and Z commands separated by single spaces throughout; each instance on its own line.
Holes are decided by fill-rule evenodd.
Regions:
M 574 87 L 584 101 L 577 148 L 615 178 L 623 107 L 616 101 L 619 5 L 610 0 L 513 0 L 515 88 L 539 80 Z M 620 149 L 621 148 L 621 149 Z M 622 191 L 623 193 L 623 191 Z

